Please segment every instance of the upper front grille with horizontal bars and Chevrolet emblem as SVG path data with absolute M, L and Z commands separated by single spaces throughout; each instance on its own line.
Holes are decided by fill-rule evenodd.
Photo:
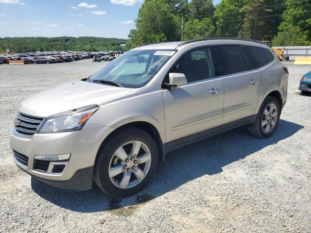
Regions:
M 32 136 L 44 118 L 17 112 L 15 129 L 18 133 Z

